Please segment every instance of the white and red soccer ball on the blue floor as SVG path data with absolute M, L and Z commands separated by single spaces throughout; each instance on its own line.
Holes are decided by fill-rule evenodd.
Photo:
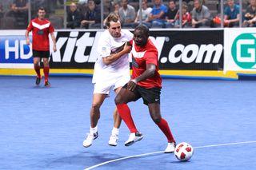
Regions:
M 190 160 L 193 156 L 193 148 L 190 144 L 182 142 L 176 146 L 174 155 L 181 161 Z

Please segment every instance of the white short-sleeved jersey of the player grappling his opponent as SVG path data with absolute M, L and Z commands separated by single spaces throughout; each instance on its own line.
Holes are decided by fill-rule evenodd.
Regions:
M 102 33 L 98 41 L 99 56 L 94 65 L 93 83 L 96 83 L 97 81 L 108 81 L 113 76 L 113 74 L 120 76 L 120 74 L 122 75 L 128 73 L 130 75 L 130 62 L 128 53 L 110 65 L 105 65 L 102 61 L 102 57 L 110 56 L 111 52 L 122 46 L 125 42 L 129 42 L 132 38 L 133 34 L 129 30 L 121 30 L 120 38 L 113 38 L 109 30 L 105 30 Z M 110 74 L 112 75 L 110 76 Z

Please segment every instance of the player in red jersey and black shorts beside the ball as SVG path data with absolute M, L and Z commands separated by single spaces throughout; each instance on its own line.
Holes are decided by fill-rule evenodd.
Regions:
M 138 132 L 134 125 L 127 105 L 128 102 L 137 101 L 142 97 L 144 104 L 149 108 L 152 120 L 166 135 L 168 144 L 165 152 L 174 152 L 176 142 L 167 121 L 162 118 L 160 113 L 162 78 L 158 73 L 158 49 L 149 39 L 148 27 L 137 26 L 134 30 L 133 41 L 130 43 L 132 44 L 132 77 L 114 100 L 119 115 L 130 129 L 130 137 L 125 145 L 130 146 L 143 138 L 142 133 Z

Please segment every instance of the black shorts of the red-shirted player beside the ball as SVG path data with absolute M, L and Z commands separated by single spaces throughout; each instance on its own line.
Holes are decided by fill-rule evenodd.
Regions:
M 122 88 L 127 89 L 127 84 L 124 85 Z M 137 85 L 134 91 L 131 91 L 135 94 L 136 98 L 134 101 L 137 101 L 139 98 L 142 97 L 143 103 L 148 105 L 150 103 L 159 103 L 160 104 L 160 94 L 161 89 L 158 87 L 146 89 L 142 86 Z

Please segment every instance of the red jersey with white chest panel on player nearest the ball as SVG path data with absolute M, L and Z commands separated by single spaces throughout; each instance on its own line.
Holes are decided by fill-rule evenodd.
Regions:
M 132 79 L 140 76 L 146 71 L 146 64 L 156 65 L 156 71 L 154 76 L 147 78 L 144 81 L 139 81 L 138 85 L 150 89 L 154 87 L 162 88 L 162 78 L 158 73 L 158 49 L 155 47 L 153 42 L 148 39 L 146 46 L 140 47 L 132 42 L 133 48 L 131 50 L 132 54 L 132 65 L 133 73 Z

